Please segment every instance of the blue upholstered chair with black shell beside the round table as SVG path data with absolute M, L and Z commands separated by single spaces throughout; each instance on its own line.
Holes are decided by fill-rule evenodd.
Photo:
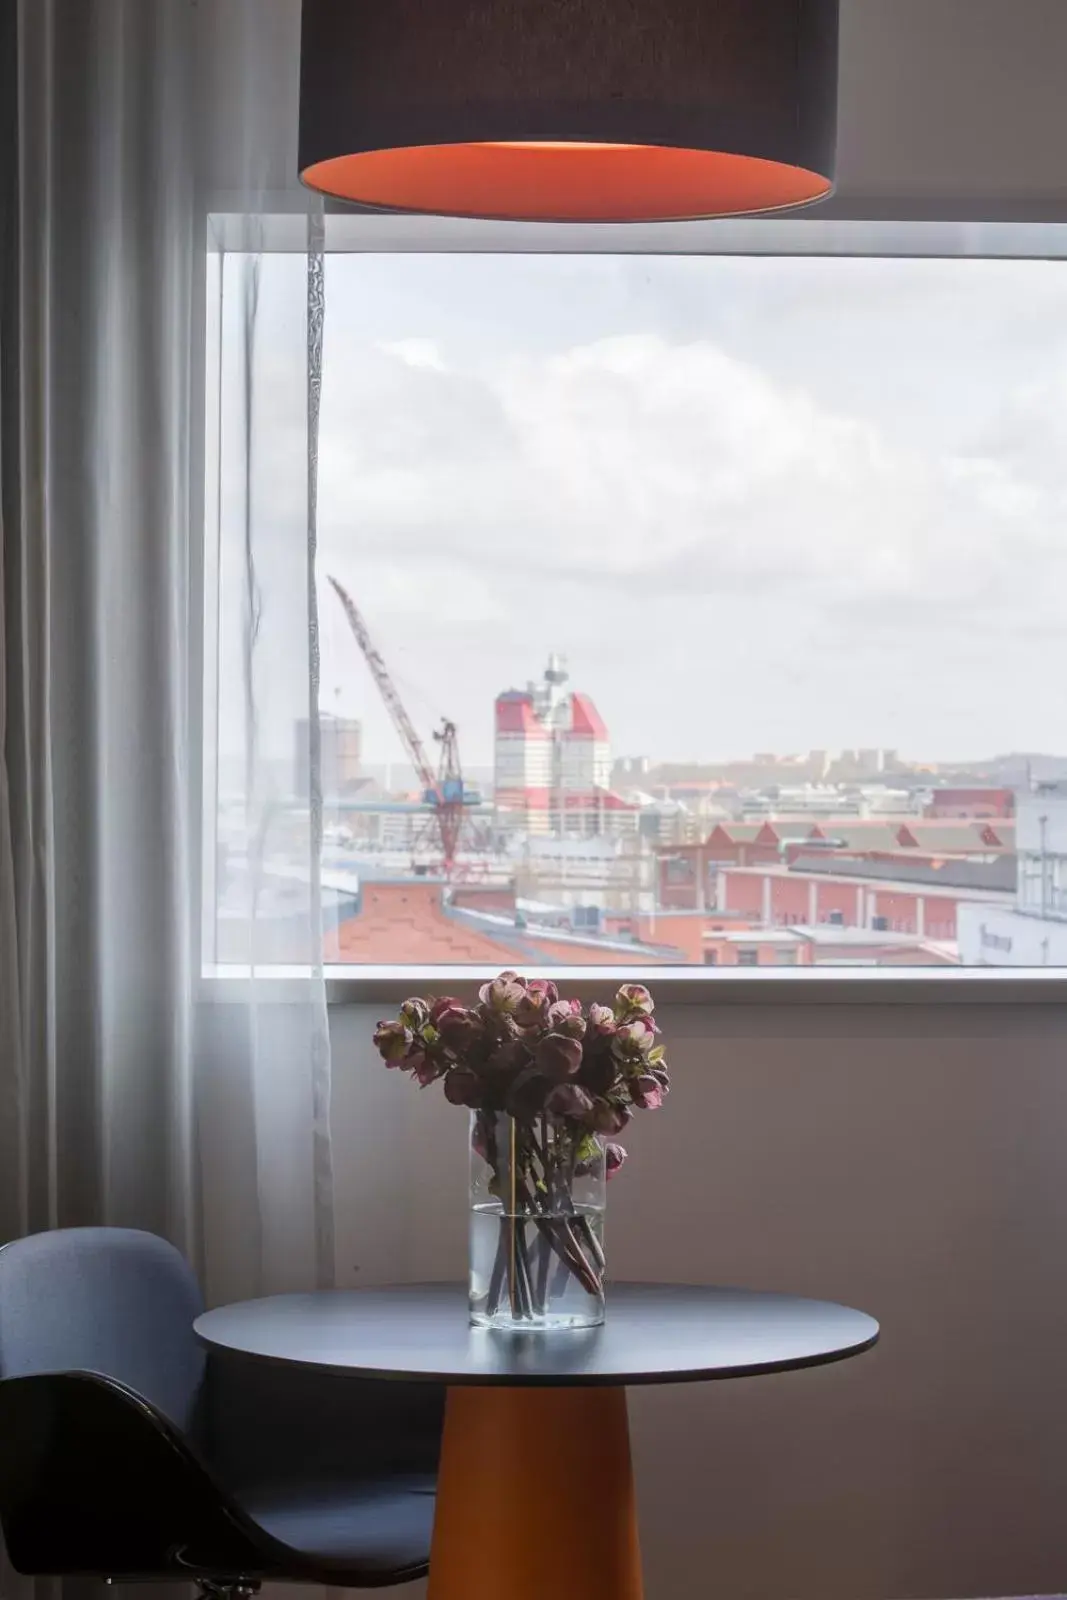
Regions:
M 27 1574 L 382 1587 L 427 1570 L 443 1394 L 208 1357 L 182 1256 L 0 1250 L 0 1525 Z

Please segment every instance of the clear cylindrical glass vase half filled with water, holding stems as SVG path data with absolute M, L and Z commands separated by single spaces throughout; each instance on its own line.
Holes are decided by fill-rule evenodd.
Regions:
M 566 1118 L 470 1114 L 472 1326 L 600 1326 L 605 1182 L 601 1141 Z

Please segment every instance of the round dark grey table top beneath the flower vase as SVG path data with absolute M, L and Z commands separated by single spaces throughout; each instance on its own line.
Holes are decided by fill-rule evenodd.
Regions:
M 614 1283 L 603 1328 L 486 1331 L 458 1285 L 222 1306 L 197 1318 L 214 1350 L 352 1378 L 445 1384 L 669 1384 L 821 1366 L 867 1350 L 878 1323 L 829 1301 L 755 1290 Z

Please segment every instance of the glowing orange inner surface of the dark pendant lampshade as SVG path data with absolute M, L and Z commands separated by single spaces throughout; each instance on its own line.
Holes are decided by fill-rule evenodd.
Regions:
M 426 144 L 315 162 L 304 182 L 339 200 L 526 222 L 665 222 L 819 200 L 829 178 L 721 150 L 649 144 Z

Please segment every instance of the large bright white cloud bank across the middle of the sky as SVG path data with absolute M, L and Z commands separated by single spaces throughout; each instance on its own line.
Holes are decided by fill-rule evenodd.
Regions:
M 1019 541 L 1048 536 L 1062 493 L 993 459 L 905 450 L 705 339 L 619 336 L 482 371 L 386 352 L 339 405 L 330 534 L 344 507 L 368 554 L 448 550 L 501 595 L 537 568 L 657 592 L 793 587 L 827 610 L 936 592 L 955 608 L 1014 590 Z

